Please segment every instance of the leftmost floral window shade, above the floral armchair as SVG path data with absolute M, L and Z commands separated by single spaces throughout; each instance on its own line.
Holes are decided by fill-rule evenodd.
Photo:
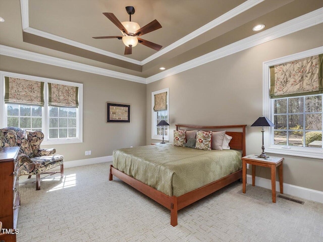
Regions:
M 44 83 L 21 78 L 5 77 L 5 102 L 44 105 Z

